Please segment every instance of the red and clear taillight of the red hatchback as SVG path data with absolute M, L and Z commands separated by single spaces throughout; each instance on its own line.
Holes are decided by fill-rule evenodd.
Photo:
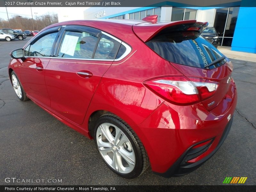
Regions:
M 206 100 L 212 97 L 217 90 L 217 82 L 197 77 L 188 78 L 164 76 L 150 79 L 143 84 L 165 100 L 181 105 Z

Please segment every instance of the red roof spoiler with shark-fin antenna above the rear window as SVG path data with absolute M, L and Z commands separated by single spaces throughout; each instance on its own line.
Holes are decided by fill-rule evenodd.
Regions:
M 183 20 L 183 21 L 173 21 L 170 23 L 155 23 L 153 20 L 153 16 L 151 15 L 145 17 L 144 21 L 150 22 L 140 23 L 137 25 L 133 25 L 133 32 L 144 42 L 149 41 L 154 36 L 160 33 L 169 33 L 173 31 L 184 31 L 184 30 L 192 30 L 198 31 L 200 33 L 208 26 L 208 22 L 196 22 L 196 20 Z M 157 17 L 155 18 L 157 20 Z

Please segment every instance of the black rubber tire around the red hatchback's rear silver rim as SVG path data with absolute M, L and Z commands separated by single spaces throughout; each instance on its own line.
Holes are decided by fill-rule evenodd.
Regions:
M 110 114 L 109 114 L 110 115 Z M 112 117 L 114 119 L 114 117 Z M 104 163 L 113 171 L 115 172 L 117 175 L 124 177 L 126 179 L 132 179 L 132 178 L 136 178 L 140 175 L 141 171 L 142 171 L 142 157 L 140 155 L 140 152 L 134 142 L 134 140 L 132 139 L 132 136 L 128 133 L 128 131 L 126 130 L 126 126 L 124 124 L 119 124 L 117 123 L 118 120 L 113 120 L 111 117 L 109 116 L 101 116 L 99 118 L 99 120 L 97 121 L 97 123 L 95 124 L 95 129 L 94 129 L 94 133 L 93 133 L 93 138 L 94 138 L 94 142 L 96 145 L 96 148 L 100 154 L 99 148 L 98 148 L 98 144 L 97 144 L 97 140 L 96 138 L 96 134 L 97 134 L 97 129 L 98 127 L 103 124 L 103 123 L 111 123 L 114 124 L 115 126 L 117 126 L 122 132 L 124 132 L 125 136 L 128 138 L 128 140 L 130 141 L 130 143 L 132 144 L 132 149 L 134 151 L 135 154 L 135 166 L 134 169 L 132 170 L 132 172 L 124 174 L 124 173 L 119 173 L 117 172 L 115 169 L 113 169 L 112 167 L 110 167 L 108 165 L 108 163 L 105 162 L 105 160 L 102 158 L 102 160 L 104 161 Z M 116 122 L 117 121 L 117 122 Z M 100 154 L 101 156 L 101 154 Z M 102 156 L 101 156 L 102 157 Z

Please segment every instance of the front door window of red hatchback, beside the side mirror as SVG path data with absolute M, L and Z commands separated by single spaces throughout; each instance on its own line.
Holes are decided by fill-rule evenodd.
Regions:
M 36 42 L 32 42 L 32 44 L 30 44 L 28 56 L 50 57 L 52 45 L 54 43 L 55 38 L 57 37 L 57 34 L 58 32 L 50 33 L 39 38 Z M 28 51 L 26 49 L 25 54 L 26 51 Z

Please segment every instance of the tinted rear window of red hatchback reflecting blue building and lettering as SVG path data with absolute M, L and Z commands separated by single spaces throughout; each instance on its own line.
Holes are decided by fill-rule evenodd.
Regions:
M 200 33 L 195 31 L 160 34 L 146 44 L 166 60 L 198 68 L 205 68 L 213 60 L 224 56 Z M 224 63 L 225 60 L 209 68 L 216 68 Z

